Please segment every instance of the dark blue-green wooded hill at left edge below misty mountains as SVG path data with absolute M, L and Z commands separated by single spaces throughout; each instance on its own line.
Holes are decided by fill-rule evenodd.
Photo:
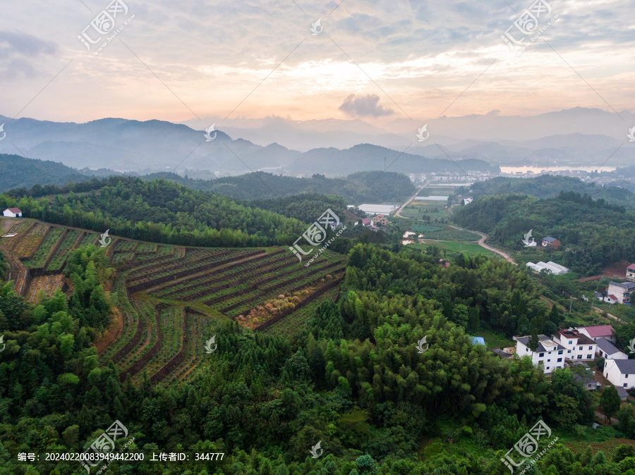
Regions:
M 30 188 L 34 185 L 66 185 L 90 177 L 75 168 L 55 161 L 25 159 L 19 155 L 0 154 L 0 192 L 11 188 Z

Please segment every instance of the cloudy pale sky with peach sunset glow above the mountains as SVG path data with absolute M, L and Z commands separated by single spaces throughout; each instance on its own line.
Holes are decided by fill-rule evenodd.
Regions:
M 90 23 L 109 1 L 4 6 L 0 114 L 84 122 L 231 113 L 381 124 L 635 104 L 632 0 L 124 1 L 127 13 L 110 4 L 115 30 L 134 18 L 97 56 L 115 30 L 101 35 Z M 512 27 L 521 39 L 512 25 L 532 5 L 537 31 L 546 29 L 512 52 L 501 35 Z M 90 51 L 78 39 L 83 31 L 102 38 Z

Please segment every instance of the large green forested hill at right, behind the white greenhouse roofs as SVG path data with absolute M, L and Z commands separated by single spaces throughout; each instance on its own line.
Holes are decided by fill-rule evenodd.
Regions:
M 527 195 L 480 197 L 454 211 L 459 226 L 488 233 L 490 242 L 523 249 L 523 235 L 533 229 L 540 240 L 550 235 L 562 242 L 551 257 L 581 273 L 599 273 L 607 264 L 635 261 L 635 211 L 576 192 L 538 199 Z M 561 259 L 561 260 L 559 260 Z

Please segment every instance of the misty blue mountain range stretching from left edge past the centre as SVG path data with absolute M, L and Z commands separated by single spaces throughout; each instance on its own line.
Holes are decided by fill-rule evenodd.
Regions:
M 73 168 L 108 168 L 124 173 L 175 170 L 183 173 L 188 169 L 239 174 L 262 170 L 344 176 L 385 167 L 402 173 L 498 170 L 479 159 L 427 159 L 373 144 L 298 152 L 277 143 L 262 146 L 241 138 L 233 140 L 222 130 L 211 132 L 214 140 L 207 141 L 202 130 L 164 121 L 104 118 L 78 124 L 30 118 L 11 121 L 0 116 L 0 123 L 5 123 L 6 132 L 5 139 L 0 141 L 0 153 L 19 152 Z

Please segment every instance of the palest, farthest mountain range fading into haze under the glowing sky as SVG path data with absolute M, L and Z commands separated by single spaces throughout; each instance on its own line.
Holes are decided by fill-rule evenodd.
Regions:
M 635 125 L 635 114 L 619 111 L 618 115 L 582 107 L 537 116 L 501 116 L 492 111 L 484 115 L 442 116 L 417 121 L 400 118 L 382 127 L 360 119 L 292 121 L 281 117 L 226 121 L 209 117 L 184 123 L 193 128 L 222 123 L 222 130 L 232 137 L 260 145 L 276 142 L 301 152 L 322 147 L 346 149 L 367 143 L 397 150 L 410 146 L 409 153 L 428 158 L 446 159 L 447 153 L 452 159 L 544 168 L 599 166 L 608 157 L 611 158 L 607 166 L 628 166 L 635 159 L 635 142 L 629 142 L 627 137 L 629 129 Z M 425 142 L 418 142 L 417 130 L 425 124 L 430 137 Z

